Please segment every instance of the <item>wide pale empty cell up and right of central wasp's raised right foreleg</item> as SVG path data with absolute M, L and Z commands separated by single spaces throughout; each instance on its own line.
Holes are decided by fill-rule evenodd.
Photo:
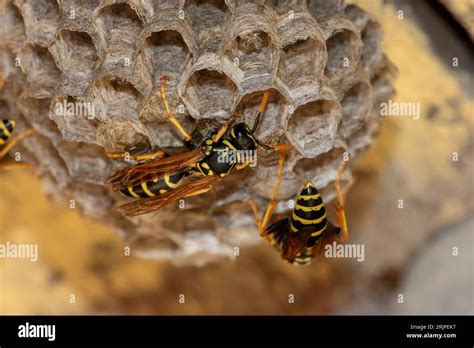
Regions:
M 290 88 L 317 83 L 325 63 L 323 43 L 308 37 L 283 48 L 280 55 L 278 75 Z

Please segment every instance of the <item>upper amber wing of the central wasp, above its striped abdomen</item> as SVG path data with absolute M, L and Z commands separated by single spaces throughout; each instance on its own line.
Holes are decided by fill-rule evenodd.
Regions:
M 105 183 L 111 184 L 115 191 L 120 191 L 124 187 L 140 183 L 140 181 L 147 177 L 159 177 L 166 173 L 183 171 L 202 160 L 205 156 L 203 149 L 199 148 L 163 159 L 129 166 L 114 173 Z

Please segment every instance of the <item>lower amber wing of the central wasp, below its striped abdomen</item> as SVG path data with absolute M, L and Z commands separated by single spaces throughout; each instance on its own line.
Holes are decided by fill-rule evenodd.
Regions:
M 163 208 L 164 206 L 176 202 L 182 198 L 191 197 L 208 192 L 214 184 L 220 181 L 219 176 L 205 176 L 197 180 L 189 180 L 180 184 L 177 188 L 159 196 L 139 199 L 134 202 L 124 204 L 118 210 L 126 216 L 136 216 Z

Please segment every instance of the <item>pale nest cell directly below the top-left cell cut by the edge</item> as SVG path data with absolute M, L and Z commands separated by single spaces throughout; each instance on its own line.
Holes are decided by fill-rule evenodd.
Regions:
M 29 44 L 19 54 L 20 67 L 27 75 L 28 95 L 36 98 L 54 96 L 61 72 L 48 49 Z

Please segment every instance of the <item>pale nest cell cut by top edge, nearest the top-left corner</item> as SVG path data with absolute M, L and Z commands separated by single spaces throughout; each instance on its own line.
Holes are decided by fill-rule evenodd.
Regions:
M 31 42 L 47 46 L 61 22 L 56 0 L 16 1 L 23 14 L 26 35 Z

